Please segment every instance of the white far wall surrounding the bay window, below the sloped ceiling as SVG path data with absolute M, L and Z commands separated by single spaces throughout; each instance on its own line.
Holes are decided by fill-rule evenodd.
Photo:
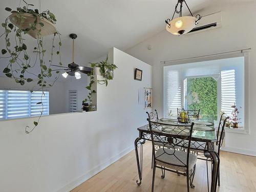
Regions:
M 222 11 L 222 28 L 201 33 L 174 36 L 163 30 L 126 52 L 153 65 L 153 98 L 154 107 L 163 112 L 163 69 L 160 61 L 201 56 L 212 53 L 252 48 L 249 54 L 249 129 L 250 135 L 227 133 L 225 150 L 256 155 L 256 116 L 255 83 L 256 83 L 256 3 L 246 2 L 239 5 L 230 4 L 228 7 L 210 7 L 202 10 L 202 15 Z M 165 29 L 163 18 L 163 29 Z M 147 50 L 151 45 L 152 50 Z M 162 115 L 162 114 L 160 114 Z

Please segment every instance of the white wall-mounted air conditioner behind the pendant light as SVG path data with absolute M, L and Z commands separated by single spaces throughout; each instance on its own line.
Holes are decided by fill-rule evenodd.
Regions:
M 208 29 L 216 29 L 222 26 L 221 11 L 202 16 L 199 24 L 186 34 L 198 33 Z

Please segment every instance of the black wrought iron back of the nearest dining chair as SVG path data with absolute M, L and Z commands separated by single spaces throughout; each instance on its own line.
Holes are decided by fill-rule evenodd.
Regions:
M 161 122 L 154 122 L 151 121 L 149 118 L 148 124 L 150 126 L 151 138 L 152 138 L 152 145 L 153 149 L 155 146 L 155 142 L 162 143 L 163 153 L 156 156 L 155 150 L 153 150 L 154 161 L 160 161 L 165 164 L 169 164 L 172 166 L 179 166 L 179 167 L 186 167 L 187 174 L 188 174 L 188 163 L 189 163 L 189 152 L 190 152 L 190 142 L 191 142 L 191 135 L 193 131 L 194 123 L 186 124 L 186 125 L 177 125 L 177 124 L 165 124 Z M 184 140 L 188 141 L 188 148 L 187 148 L 187 156 L 186 160 L 179 159 L 175 153 L 176 147 L 182 147 L 182 143 Z M 169 153 L 169 148 L 172 149 L 172 153 Z M 185 153 L 185 152 L 184 152 Z M 169 156 L 174 156 L 175 160 L 179 162 L 178 164 L 170 164 L 168 162 L 163 162 L 160 156 L 167 154 Z

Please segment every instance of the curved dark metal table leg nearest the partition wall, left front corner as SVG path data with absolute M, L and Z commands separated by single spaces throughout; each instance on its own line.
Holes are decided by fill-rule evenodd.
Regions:
M 137 160 L 137 166 L 138 166 L 138 174 L 139 174 L 139 181 L 136 180 L 136 183 L 138 185 L 141 184 L 141 180 L 142 180 L 142 165 L 143 165 L 143 144 L 145 143 L 145 139 L 141 139 L 140 137 L 138 137 L 137 139 L 135 139 L 134 145 L 135 145 L 135 154 L 136 154 L 136 160 Z M 140 146 L 140 158 L 139 158 L 139 154 L 138 154 L 138 148 Z

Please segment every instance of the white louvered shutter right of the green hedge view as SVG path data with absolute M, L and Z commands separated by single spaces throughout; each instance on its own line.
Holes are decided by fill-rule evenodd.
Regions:
M 236 103 L 235 70 L 221 71 L 221 111 L 231 115 L 231 106 Z

